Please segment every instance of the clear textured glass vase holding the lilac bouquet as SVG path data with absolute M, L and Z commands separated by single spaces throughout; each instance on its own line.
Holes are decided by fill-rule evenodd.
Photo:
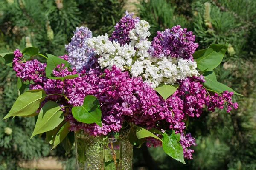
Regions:
M 130 129 L 111 136 L 89 136 L 76 132 L 77 170 L 131 170 L 133 145 L 128 141 Z

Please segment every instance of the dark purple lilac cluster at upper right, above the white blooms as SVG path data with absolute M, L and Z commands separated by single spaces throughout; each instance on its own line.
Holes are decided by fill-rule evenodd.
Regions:
M 153 57 L 182 57 L 183 59 L 192 59 L 192 54 L 198 48 L 195 43 L 195 35 L 186 31 L 186 28 L 180 28 L 179 25 L 166 29 L 163 32 L 157 31 L 157 36 L 151 42 L 149 52 Z

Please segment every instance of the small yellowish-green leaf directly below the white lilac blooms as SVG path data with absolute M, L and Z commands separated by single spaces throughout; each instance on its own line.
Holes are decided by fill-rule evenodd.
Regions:
M 177 88 L 179 88 L 179 84 L 165 84 L 161 83 L 155 90 L 163 97 L 163 99 L 167 99 L 169 96 L 171 96 Z

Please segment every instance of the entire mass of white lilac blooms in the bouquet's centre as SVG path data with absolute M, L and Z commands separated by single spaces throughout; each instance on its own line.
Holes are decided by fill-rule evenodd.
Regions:
M 150 25 L 140 20 L 129 31 L 129 44 L 120 45 L 111 41 L 108 35 L 88 38 L 86 44 L 98 54 L 101 68 L 111 69 L 113 65 L 121 70 L 129 70 L 133 77 L 142 76 L 145 81 L 156 88 L 160 83 L 174 84 L 177 80 L 199 75 L 196 62 L 181 57 L 151 57 L 148 52 L 151 42 L 147 37 Z

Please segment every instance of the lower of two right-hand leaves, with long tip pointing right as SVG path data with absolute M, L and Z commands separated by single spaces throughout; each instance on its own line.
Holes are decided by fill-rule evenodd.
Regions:
M 227 85 L 224 85 L 217 81 L 216 74 L 213 71 L 207 71 L 203 74 L 205 82 L 204 87 L 212 90 L 215 93 L 221 93 L 223 91 L 232 91 L 236 95 L 243 96 L 236 91 L 234 91 L 232 88 L 228 87 Z

